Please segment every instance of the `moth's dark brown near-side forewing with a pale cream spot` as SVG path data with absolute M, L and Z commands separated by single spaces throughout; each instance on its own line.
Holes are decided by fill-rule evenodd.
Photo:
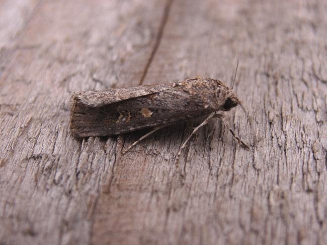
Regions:
M 185 84 L 161 85 L 144 89 L 135 94 L 129 90 L 130 96 L 121 94 L 119 98 L 108 98 L 96 92 L 97 106 L 90 106 L 80 99 L 74 103 L 70 128 L 75 135 L 105 136 L 116 135 L 135 130 L 196 118 L 211 112 L 203 98 L 197 93 L 191 93 Z M 145 92 L 147 94 L 145 94 Z M 149 92 L 151 91 L 151 92 Z M 115 95 L 119 94 L 116 90 Z M 89 96 L 87 101 L 90 102 Z M 109 102 L 110 101 L 110 102 Z

